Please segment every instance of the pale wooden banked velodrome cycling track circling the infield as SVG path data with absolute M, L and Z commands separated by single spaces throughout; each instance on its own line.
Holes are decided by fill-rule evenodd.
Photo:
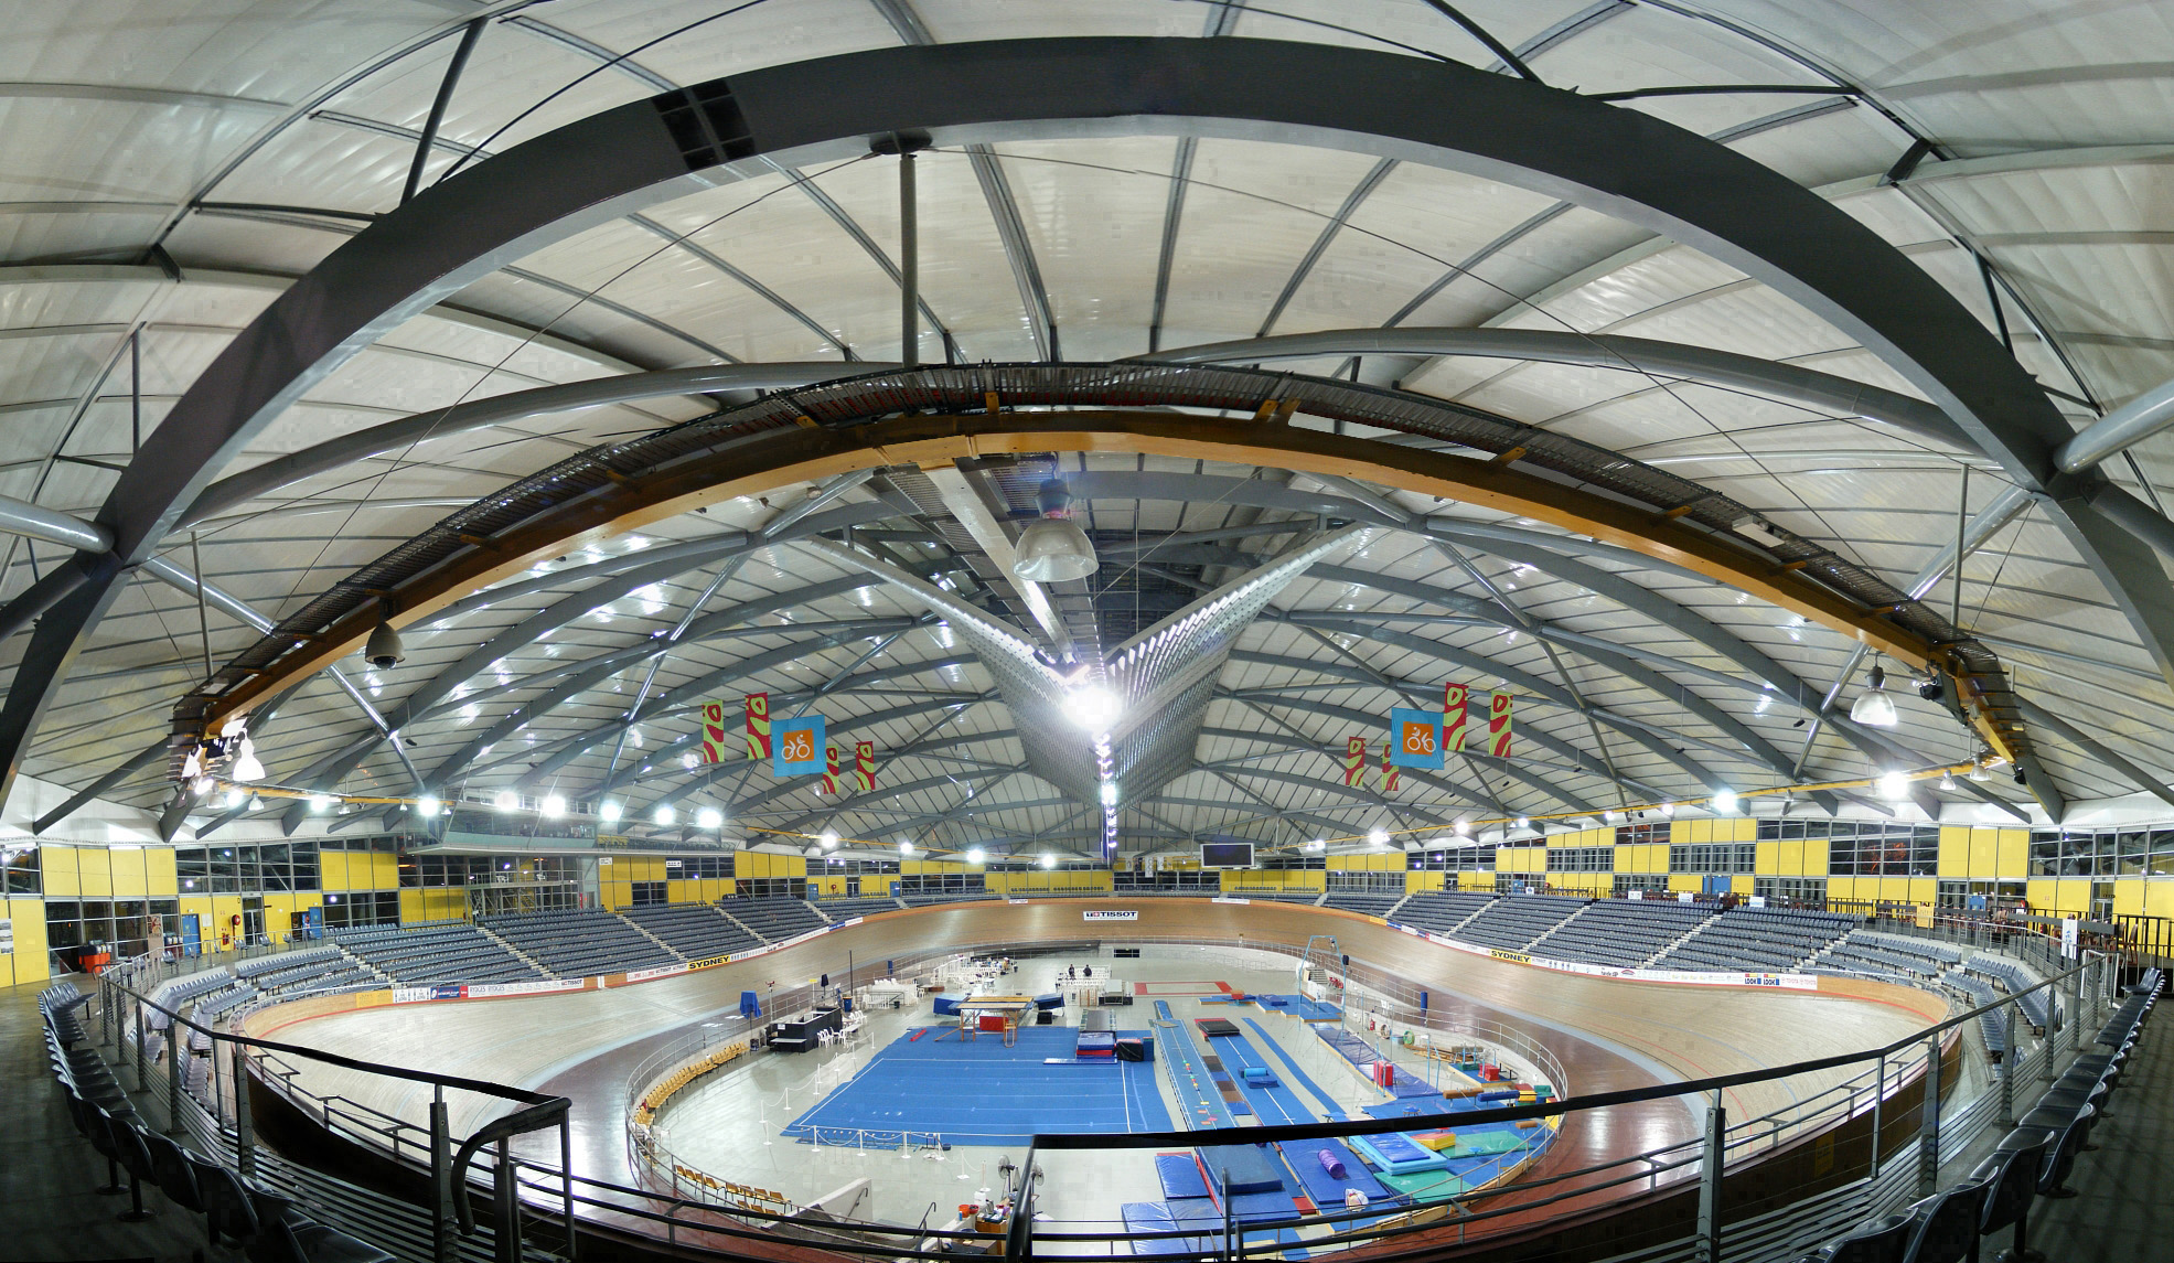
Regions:
M 1137 922 L 1083 922 L 1089 909 L 1137 909 Z M 1226 904 L 1191 898 L 978 902 L 898 911 L 813 941 L 694 974 L 557 996 L 430 1002 L 283 1020 L 252 1017 L 250 1033 L 346 1056 L 533 1087 L 574 1100 L 574 1167 L 637 1183 L 626 1163 L 626 1078 L 652 1048 L 720 1013 L 739 993 L 767 993 L 913 952 L 1035 941 L 1224 939 L 1302 948 L 1335 935 L 1367 963 L 1430 991 L 1430 1009 L 1522 1028 L 1563 1063 L 1574 1096 L 1763 1070 L 1891 1043 L 1948 1015 L 1924 991 L 1822 978 L 1833 991 L 1657 985 L 1563 974 L 1474 956 L 1413 939 L 1380 922 L 1304 904 Z M 426 1124 L 422 1085 L 302 1063 L 296 1083 Z M 1731 1122 L 1757 1117 L 1846 1078 L 1844 1072 L 1748 1085 L 1724 1093 Z M 454 1137 L 500 1113 L 487 1098 L 448 1098 Z M 1574 1113 L 1533 1174 L 1576 1170 L 1698 1135 L 1676 1100 Z M 557 1143 L 550 1143 L 557 1150 Z M 554 1152 L 550 1154 L 557 1156 Z M 730 1172 L 717 1172 L 730 1178 Z

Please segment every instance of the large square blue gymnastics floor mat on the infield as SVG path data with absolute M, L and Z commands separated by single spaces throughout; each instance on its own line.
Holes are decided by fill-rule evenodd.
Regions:
M 1013 1048 L 998 1039 L 915 1043 L 909 1030 L 780 1135 L 896 1148 L 935 1139 L 1024 1146 L 1048 1130 L 1170 1130 L 1152 1063 L 1074 1061 L 1076 1041 L 1070 1026 L 1024 1026 Z

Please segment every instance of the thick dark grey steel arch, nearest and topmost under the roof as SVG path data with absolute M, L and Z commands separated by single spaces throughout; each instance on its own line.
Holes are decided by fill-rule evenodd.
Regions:
M 854 52 L 630 102 L 487 159 L 352 237 L 152 430 L 98 515 L 113 550 L 78 554 L 37 591 L 46 617 L 0 706 L 0 793 L 120 574 L 215 470 L 363 346 L 589 226 L 767 161 L 859 157 L 867 137 L 902 128 L 946 146 L 1139 133 L 1313 143 L 1535 189 L 1704 250 L 1841 328 L 2011 476 L 2046 489 L 2054 522 L 2174 680 L 2165 572 L 2091 507 L 2104 478 L 2054 467 L 2072 428 L 2044 391 L 1926 272 L 1778 172 L 1652 115 L 1459 63 L 1257 39 L 1015 39 Z

